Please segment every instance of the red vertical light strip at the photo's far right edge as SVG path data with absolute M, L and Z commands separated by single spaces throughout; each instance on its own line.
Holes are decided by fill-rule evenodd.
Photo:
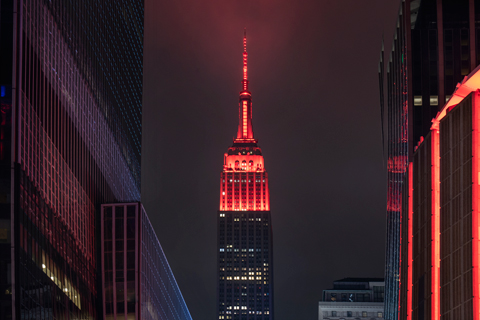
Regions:
M 479 157 L 480 157 L 480 114 L 479 114 L 479 92 L 472 97 L 472 286 L 473 286 L 473 320 L 480 320 L 480 277 L 479 277 L 479 225 L 478 225 L 478 197 L 479 197 Z

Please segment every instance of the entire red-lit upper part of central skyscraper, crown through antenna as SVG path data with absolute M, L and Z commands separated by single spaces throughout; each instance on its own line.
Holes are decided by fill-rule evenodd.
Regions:
M 239 124 L 225 153 L 220 178 L 220 211 L 270 211 L 268 175 L 252 128 L 252 94 L 248 91 L 247 34 L 243 37 L 243 80 Z

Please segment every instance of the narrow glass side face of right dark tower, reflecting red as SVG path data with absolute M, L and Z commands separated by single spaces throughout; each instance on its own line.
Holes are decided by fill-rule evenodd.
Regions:
M 385 315 L 394 317 L 398 301 L 399 263 L 400 263 L 400 211 L 403 173 L 408 160 L 408 96 L 407 96 L 407 55 L 405 46 L 404 23 L 399 19 L 395 50 L 387 64 L 387 88 L 381 92 L 387 94 L 387 230 L 385 255 Z M 382 53 L 383 56 L 383 53 Z M 383 65 L 383 61 L 381 61 Z M 382 66 L 383 67 L 383 66 Z M 380 68 L 383 79 L 384 69 Z M 381 82 L 381 86 L 383 82 Z M 381 98 L 383 103 L 383 97 Z

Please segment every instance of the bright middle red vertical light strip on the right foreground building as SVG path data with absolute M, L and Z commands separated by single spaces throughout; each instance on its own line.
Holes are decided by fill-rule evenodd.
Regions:
M 431 135 L 432 179 L 432 320 L 440 320 L 440 142 L 439 122 L 434 120 Z

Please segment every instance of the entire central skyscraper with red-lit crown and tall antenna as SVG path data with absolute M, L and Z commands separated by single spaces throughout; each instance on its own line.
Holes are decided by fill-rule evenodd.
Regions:
M 218 211 L 218 319 L 273 319 L 268 175 L 252 128 L 247 39 L 243 39 L 239 125 L 224 156 Z

